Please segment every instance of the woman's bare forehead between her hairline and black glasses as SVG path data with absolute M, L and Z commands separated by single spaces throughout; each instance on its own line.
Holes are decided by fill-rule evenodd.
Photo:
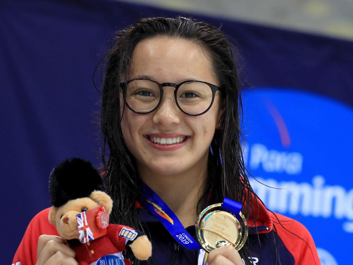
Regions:
M 216 84 L 208 51 L 195 42 L 168 37 L 140 41 L 132 54 L 130 78 L 150 76 L 157 82 L 196 79 Z

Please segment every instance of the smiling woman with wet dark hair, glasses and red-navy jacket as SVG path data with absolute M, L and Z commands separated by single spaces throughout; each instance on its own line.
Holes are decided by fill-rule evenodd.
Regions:
M 113 199 L 111 221 L 145 231 L 152 242 L 152 258 L 135 262 L 319 264 L 304 226 L 268 212 L 251 188 L 240 144 L 234 50 L 220 29 L 183 17 L 147 18 L 115 40 L 102 93 L 103 177 Z M 222 239 L 211 251 L 203 246 L 207 256 L 194 225 L 203 208 L 225 197 L 240 205 L 244 215 L 227 216 L 239 223 L 240 214 L 248 240 L 238 252 L 223 240 L 230 232 L 221 225 L 229 224 L 215 220 L 205 237 Z M 42 236 L 38 249 L 24 251 L 31 236 L 52 231 L 43 216 L 32 220 L 41 232 L 28 229 L 16 255 L 38 251 L 32 254 L 37 264 L 76 264 L 58 237 Z

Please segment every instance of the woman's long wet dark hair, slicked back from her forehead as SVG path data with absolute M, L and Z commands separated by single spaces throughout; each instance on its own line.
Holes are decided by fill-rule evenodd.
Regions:
M 223 97 L 225 108 L 219 129 L 211 142 L 208 160 L 208 179 L 200 207 L 219 203 L 226 196 L 243 203 L 243 213 L 249 218 L 257 208 L 257 198 L 247 178 L 240 141 L 240 119 L 242 111 L 238 71 L 234 62 L 234 49 L 219 28 L 193 19 L 145 18 L 122 30 L 115 37 L 114 46 L 107 54 L 108 63 L 103 83 L 101 129 L 104 136 L 102 160 L 106 173 L 104 179 L 114 201 L 111 220 L 141 229 L 137 218 L 135 201 L 137 199 L 136 162 L 128 151 L 121 133 L 121 106 L 119 84 L 127 75 L 132 53 L 138 42 L 154 37 L 169 37 L 192 41 L 201 45 L 210 55 L 213 71 L 219 86 L 225 89 Z M 125 78 L 125 77 L 124 77 Z M 109 155 L 106 147 L 109 147 Z M 108 158 L 107 158 L 108 157 Z M 255 205 L 253 205 L 253 203 Z M 253 205 L 253 207 L 252 207 Z M 257 217 L 254 216 L 256 219 Z M 246 264 L 250 264 L 247 245 L 239 252 Z M 278 253 L 277 253 L 278 254 Z

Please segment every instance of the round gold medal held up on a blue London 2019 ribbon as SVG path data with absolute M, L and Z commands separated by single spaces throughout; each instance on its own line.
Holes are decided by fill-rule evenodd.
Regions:
M 197 240 L 207 252 L 229 245 L 239 251 L 247 239 L 247 221 L 243 213 L 239 212 L 239 222 L 237 217 L 223 211 L 221 206 L 213 204 L 201 212 L 195 224 Z

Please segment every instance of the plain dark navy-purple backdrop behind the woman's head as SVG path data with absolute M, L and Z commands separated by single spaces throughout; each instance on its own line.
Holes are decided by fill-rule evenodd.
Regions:
M 69 157 L 100 165 L 92 82 L 99 88 L 100 78 L 92 76 L 114 32 L 141 17 L 177 15 L 222 25 L 240 50 L 244 87 L 307 90 L 353 105 L 352 42 L 119 1 L 2 0 L 2 263 L 11 264 L 30 219 L 50 206 L 52 168 Z

